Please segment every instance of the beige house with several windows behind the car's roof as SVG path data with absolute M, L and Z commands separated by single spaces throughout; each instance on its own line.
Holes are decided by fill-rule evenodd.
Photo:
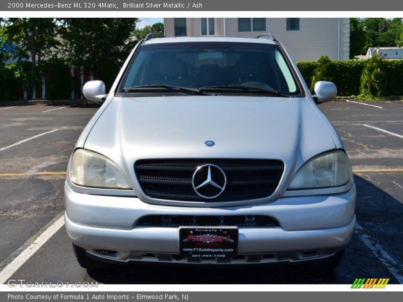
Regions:
M 166 37 L 246 37 L 272 33 L 295 61 L 350 56 L 349 18 L 164 18 Z

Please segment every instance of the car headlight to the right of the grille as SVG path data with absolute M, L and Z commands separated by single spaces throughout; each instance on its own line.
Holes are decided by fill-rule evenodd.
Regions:
M 320 154 L 306 162 L 295 174 L 289 189 L 336 187 L 350 178 L 347 155 L 342 150 Z

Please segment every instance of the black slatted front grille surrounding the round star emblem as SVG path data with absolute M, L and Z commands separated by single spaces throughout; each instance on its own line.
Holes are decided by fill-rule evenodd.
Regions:
M 207 199 L 193 189 L 192 177 L 197 167 L 213 164 L 227 178 L 221 195 Z M 283 175 L 279 160 L 245 159 L 166 159 L 140 160 L 135 172 L 146 195 L 152 198 L 180 201 L 238 201 L 268 197 L 273 194 Z M 211 190 L 211 192 L 209 192 Z M 207 186 L 202 195 L 215 195 L 217 188 Z

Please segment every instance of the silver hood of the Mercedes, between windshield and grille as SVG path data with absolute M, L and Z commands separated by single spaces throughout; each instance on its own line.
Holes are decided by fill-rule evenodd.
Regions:
M 136 160 L 157 158 L 279 159 L 284 175 L 293 174 L 306 160 L 335 148 L 314 106 L 305 98 L 115 97 L 84 147 L 132 177 Z M 207 140 L 215 145 L 206 146 Z

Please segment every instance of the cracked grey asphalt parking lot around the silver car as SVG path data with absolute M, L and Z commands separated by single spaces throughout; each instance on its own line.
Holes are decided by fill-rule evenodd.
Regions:
M 391 284 L 403 284 L 403 102 L 329 102 L 319 108 L 345 144 L 358 190 L 356 234 L 333 273 L 309 265 L 197 271 L 139 265 L 99 273 L 78 265 L 59 219 L 70 154 L 97 108 L 0 107 L 0 280 L 352 284 L 355 278 L 390 278 Z M 53 222 L 58 231 L 40 236 Z M 38 245 L 35 240 L 42 237 Z M 33 243 L 40 248 L 27 253 L 35 250 Z

